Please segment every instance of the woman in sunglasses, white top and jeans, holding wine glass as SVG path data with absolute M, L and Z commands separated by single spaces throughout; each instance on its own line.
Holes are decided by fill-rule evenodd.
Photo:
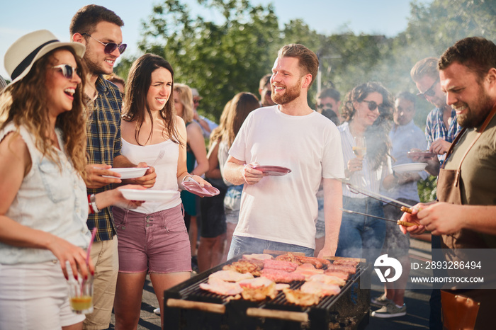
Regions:
M 378 82 L 361 84 L 346 96 L 342 114 L 344 123 L 338 128 L 346 178 L 351 185 L 376 193 L 381 186 L 391 188 L 397 180 L 391 169 L 388 140 L 393 119 L 392 96 Z M 383 217 L 380 201 L 356 193 L 345 184 L 343 208 Z M 336 256 L 367 258 L 373 262 L 379 256 L 384 238 L 384 220 L 343 212 Z

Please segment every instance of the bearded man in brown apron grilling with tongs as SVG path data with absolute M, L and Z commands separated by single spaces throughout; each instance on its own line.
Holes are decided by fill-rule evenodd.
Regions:
M 463 130 L 441 166 L 439 201 L 417 204 L 412 214 L 405 213 L 402 220 L 417 225 L 402 227 L 402 232 L 441 235 L 447 260 L 466 262 L 463 249 L 496 248 L 496 45 L 484 38 L 459 40 L 438 66 L 446 103 L 456 110 Z M 444 326 L 494 329 L 495 293 L 443 290 Z

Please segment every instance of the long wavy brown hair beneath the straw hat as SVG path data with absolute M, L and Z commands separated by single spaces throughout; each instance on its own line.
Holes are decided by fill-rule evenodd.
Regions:
M 57 116 L 55 127 L 62 131 L 62 141 L 69 161 L 72 162 L 77 173 L 84 178 L 86 166 L 86 110 L 82 98 L 86 76 L 84 64 L 76 55 L 72 47 L 59 47 L 38 59 L 30 72 L 16 84 L 6 87 L 0 95 L 0 118 L 6 118 L 1 123 L 4 129 L 8 123 L 17 127 L 21 125 L 35 137 L 35 147 L 51 161 L 62 168 L 62 163 L 54 151 L 50 139 L 50 119 L 48 115 L 48 98 L 45 79 L 47 70 L 55 63 L 54 53 L 59 50 L 68 50 L 74 56 L 81 74 L 81 84 L 76 88 L 72 110 L 65 111 Z

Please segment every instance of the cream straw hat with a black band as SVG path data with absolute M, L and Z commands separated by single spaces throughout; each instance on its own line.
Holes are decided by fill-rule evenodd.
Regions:
M 79 57 L 83 57 L 86 47 L 79 42 L 60 42 L 49 30 L 38 30 L 23 35 L 7 50 L 4 66 L 11 76 L 11 84 L 23 79 L 33 64 L 51 50 L 69 46 Z

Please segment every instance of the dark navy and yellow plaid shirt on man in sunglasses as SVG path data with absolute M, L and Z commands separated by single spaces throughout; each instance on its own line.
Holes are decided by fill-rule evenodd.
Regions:
M 120 155 L 122 142 L 120 140 L 120 106 L 122 98 L 117 86 L 98 76 L 96 79 L 98 96 L 94 103 L 94 112 L 89 118 L 87 126 L 89 164 L 107 164 L 113 166 L 113 159 Z M 98 189 L 88 189 L 88 193 L 101 193 L 112 189 L 112 185 Z M 108 241 L 115 232 L 110 207 L 98 213 L 88 215 L 88 228 L 97 227 L 96 241 Z

